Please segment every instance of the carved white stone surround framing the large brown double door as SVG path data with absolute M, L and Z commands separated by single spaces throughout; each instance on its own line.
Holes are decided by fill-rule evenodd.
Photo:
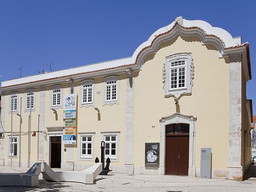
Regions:
M 165 143 L 166 133 L 165 126 L 169 124 L 189 124 L 189 157 L 188 157 L 188 176 L 196 176 L 195 167 L 195 133 L 196 133 L 196 117 L 187 116 L 180 113 L 174 113 L 167 117 L 162 117 L 160 122 L 160 149 L 159 149 L 159 175 L 165 174 Z

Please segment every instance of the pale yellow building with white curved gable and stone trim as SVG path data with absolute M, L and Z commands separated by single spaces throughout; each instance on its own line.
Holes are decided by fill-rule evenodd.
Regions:
M 0 165 L 83 170 L 104 141 L 113 172 L 200 177 L 211 148 L 211 177 L 243 180 L 250 79 L 248 43 L 178 17 L 132 57 L 2 82 Z M 75 144 L 63 142 L 68 94 L 78 98 Z

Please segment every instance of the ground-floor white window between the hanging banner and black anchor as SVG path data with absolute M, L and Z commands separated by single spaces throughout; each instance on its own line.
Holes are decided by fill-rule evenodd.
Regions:
M 95 132 L 78 133 L 80 161 L 94 161 L 94 137 Z

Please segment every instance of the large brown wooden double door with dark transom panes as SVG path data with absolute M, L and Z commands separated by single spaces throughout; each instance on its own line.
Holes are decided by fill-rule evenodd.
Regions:
M 166 132 L 165 174 L 188 175 L 189 125 L 172 125 L 172 132 L 167 126 Z

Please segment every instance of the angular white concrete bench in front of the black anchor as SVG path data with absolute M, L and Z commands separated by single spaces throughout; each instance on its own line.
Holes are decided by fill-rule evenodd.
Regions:
M 70 181 L 93 184 L 102 171 L 102 163 L 96 163 L 84 171 L 53 171 L 46 163 L 41 163 L 41 172 L 45 180 Z

